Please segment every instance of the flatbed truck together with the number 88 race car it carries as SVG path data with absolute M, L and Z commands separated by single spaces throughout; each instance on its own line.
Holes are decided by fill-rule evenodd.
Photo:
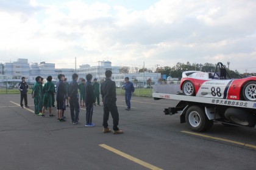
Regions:
M 217 73 L 218 68 L 221 70 L 219 73 Z M 165 115 L 174 115 L 181 111 L 180 123 L 187 123 L 195 132 L 209 130 L 213 126 L 213 122 L 220 122 L 226 126 L 255 129 L 256 77 L 227 79 L 228 73 L 222 63 L 217 64 L 214 73 L 193 71 L 183 72 L 183 75 L 183 84 L 180 84 L 182 91 L 178 94 L 155 92 L 153 87 L 152 97 L 154 100 L 179 101 L 176 107 L 165 108 Z M 200 75 L 201 80 L 197 75 Z M 213 76 L 210 77 L 210 75 Z M 218 75 L 219 80 L 215 80 L 215 75 Z M 224 80 L 221 80 L 222 78 Z M 226 84 L 227 81 L 230 83 Z M 241 83 L 243 81 L 244 83 Z M 232 84 L 231 82 L 239 83 Z

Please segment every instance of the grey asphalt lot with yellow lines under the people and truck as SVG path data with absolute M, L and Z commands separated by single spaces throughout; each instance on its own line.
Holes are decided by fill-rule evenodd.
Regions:
M 103 107 L 94 107 L 95 127 L 36 117 L 19 106 L 20 95 L 0 95 L 0 169 L 255 169 L 256 131 L 215 123 L 208 132 L 193 133 L 179 115 L 164 115 L 177 101 L 132 97 L 126 111 L 118 96 L 119 129 L 102 133 Z M 56 114 L 56 109 L 53 110 Z M 108 120 L 112 128 L 112 117 Z

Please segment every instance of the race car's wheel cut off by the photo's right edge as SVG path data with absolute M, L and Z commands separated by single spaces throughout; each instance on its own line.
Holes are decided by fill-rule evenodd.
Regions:
M 256 101 L 256 81 L 244 84 L 243 97 L 246 101 Z

